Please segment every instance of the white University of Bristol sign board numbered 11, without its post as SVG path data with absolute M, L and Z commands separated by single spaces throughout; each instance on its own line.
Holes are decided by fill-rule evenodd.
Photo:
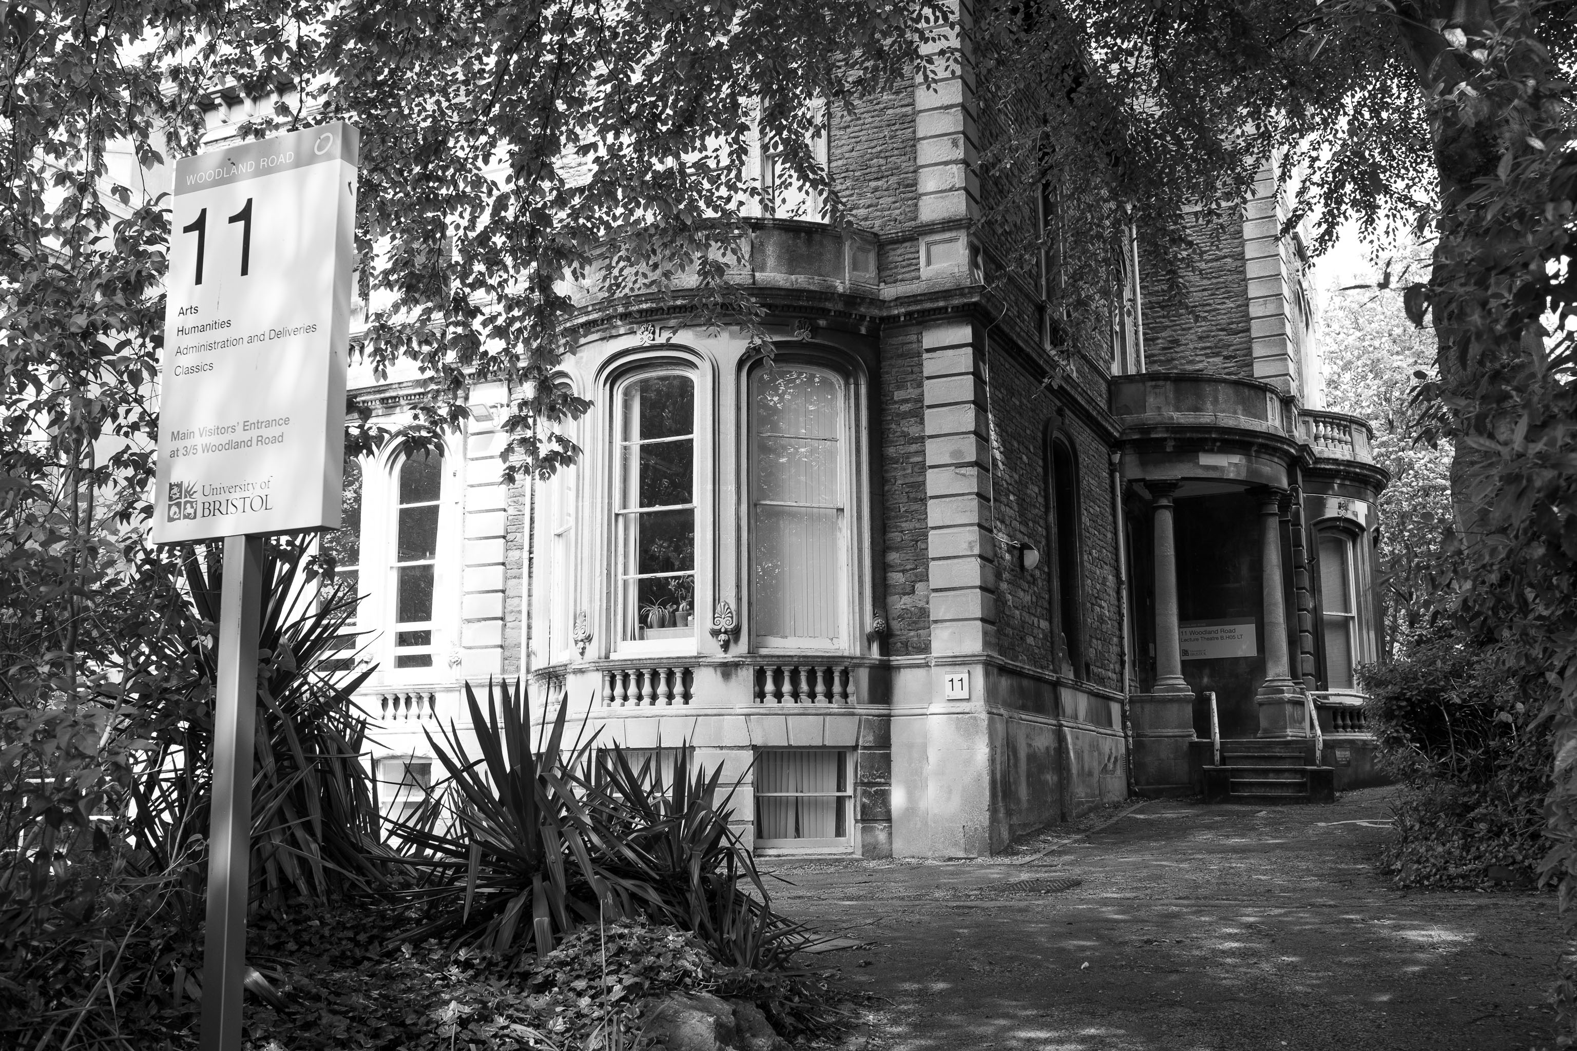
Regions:
M 177 161 L 156 544 L 339 528 L 356 147 L 336 121 Z

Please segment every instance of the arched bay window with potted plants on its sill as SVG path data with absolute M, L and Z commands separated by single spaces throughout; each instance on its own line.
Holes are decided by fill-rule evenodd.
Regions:
M 695 381 L 645 373 L 618 394 L 618 638 L 694 643 Z

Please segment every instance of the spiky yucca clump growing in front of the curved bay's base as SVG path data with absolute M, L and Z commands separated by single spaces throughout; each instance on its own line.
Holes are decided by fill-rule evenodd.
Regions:
M 692 774 L 681 748 L 664 778 L 617 745 L 595 750 L 595 734 L 566 742 L 565 704 L 533 747 L 519 684 L 489 682 L 486 712 L 467 685 L 465 703 L 479 755 L 453 725 L 429 734 L 446 777 L 391 823 L 427 868 L 405 895 L 424 917 L 404 938 L 517 956 L 549 952 L 580 923 L 639 914 L 695 933 L 721 963 L 788 966 L 806 934 L 771 911 L 729 827 L 721 771 Z

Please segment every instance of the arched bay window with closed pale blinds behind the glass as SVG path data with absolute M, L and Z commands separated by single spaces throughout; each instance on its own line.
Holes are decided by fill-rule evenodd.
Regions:
M 844 397 L 844 381 L 815 366 L 751 377 L 751 608 L 762 646 L 836 649 L 845 640 Z

